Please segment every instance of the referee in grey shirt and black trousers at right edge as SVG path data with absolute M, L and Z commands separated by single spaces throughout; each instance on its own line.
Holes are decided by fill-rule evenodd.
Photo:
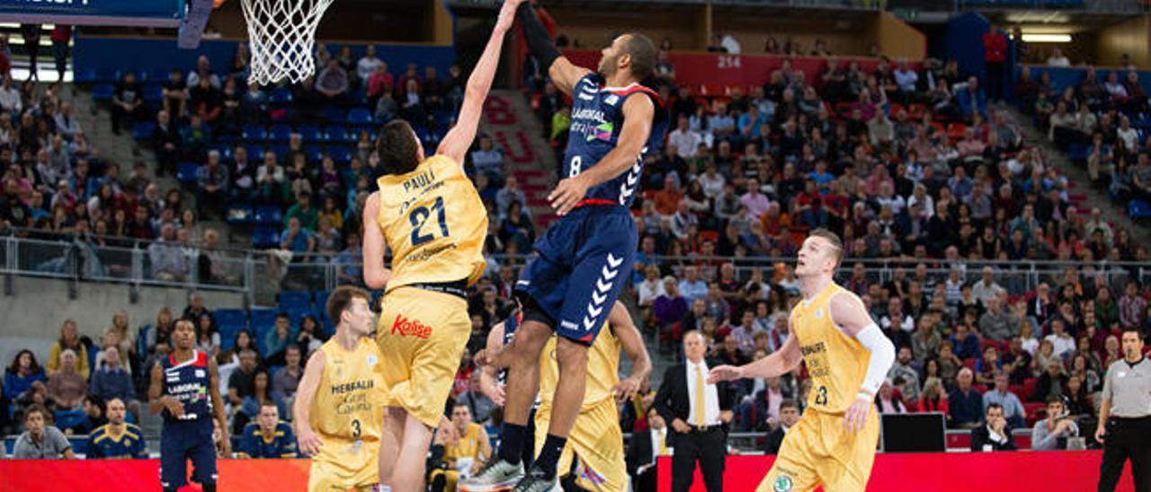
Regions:
M 1135 491 L 1151 492 L 1151 360 L 1138 329 L 1123 329 L 1123 360 L 1107 368 L 1095 438 L 1104 443 L 1099 492 L 1115 490 L 1128 458 Z

